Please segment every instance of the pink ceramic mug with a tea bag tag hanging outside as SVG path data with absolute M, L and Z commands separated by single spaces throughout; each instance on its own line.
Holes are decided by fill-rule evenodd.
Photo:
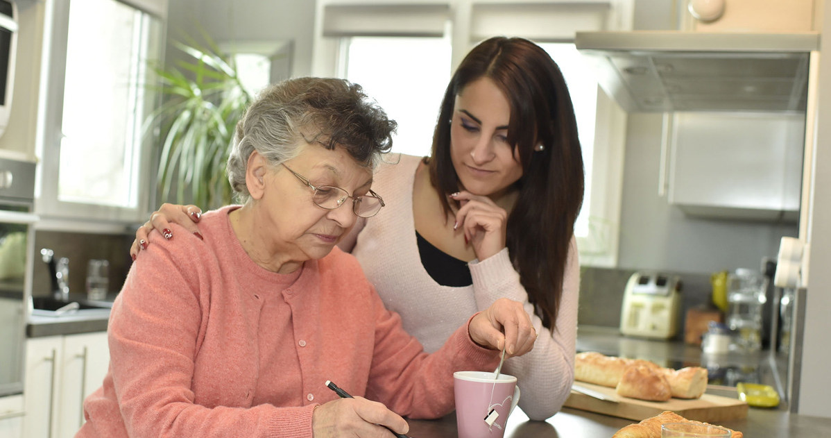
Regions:
M 517 378 L 495 372 L 453 373 L 459 438 L 502 438 L 505 422 L 519 402 Z

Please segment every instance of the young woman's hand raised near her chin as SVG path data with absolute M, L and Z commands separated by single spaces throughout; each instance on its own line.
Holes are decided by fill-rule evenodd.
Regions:
M 508 212 L 487 196 L 477 196 L 460 191 L 450 194 L 459 202 L 456 210 L 455 229 L 465 233 L 468 244 L 473 246 L 476 258 L 484 260 L 505 247 L 508 233 Z

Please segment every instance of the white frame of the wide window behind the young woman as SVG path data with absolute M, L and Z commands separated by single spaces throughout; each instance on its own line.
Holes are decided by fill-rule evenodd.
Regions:
M 435 36 L 439 27 L 435 21 L 444 19 L 455 71 L 484 37 L 573 42 L 578 30 L 631 30 L 633 6 L 634 0 L 317 0 L 312 75 L 342 74 L 337 60 L 343 37 Z M 411 8 L 411 13 L 401 13 L 404 8 Z M 354 19 L 366 11 L 370 13 L 362 15 L 361 20 Z M 591 212 L 590 233 L 578 236 L 584 266 L 617 266 L 626 122 L 626 112 L 598 87 L 593 194 L 583 204 L 583 209 Z

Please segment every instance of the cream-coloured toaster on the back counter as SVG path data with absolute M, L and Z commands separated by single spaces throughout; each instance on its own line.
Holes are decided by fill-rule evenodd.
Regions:
M 678 332 L 681 280 L 663 273 L 633 273 L 623 292 L 621 332 L 668 339 Z

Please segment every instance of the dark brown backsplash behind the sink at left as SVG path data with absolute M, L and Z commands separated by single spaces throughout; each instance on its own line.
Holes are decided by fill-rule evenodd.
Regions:
M 110 261 L 110 291 L 118 292 L 130 270 L 130 244 L 135 236 L 120 234 L 86 234 L 57 231 L 35 232 L 35 263 L 32 271 L 32 295 L 51 293 L 49 268 L 43 263 L 41 249 L 54 251 L 54 257 L 69 258 L 70 293 L 86 293 L 86 263 L 92 258 Z

